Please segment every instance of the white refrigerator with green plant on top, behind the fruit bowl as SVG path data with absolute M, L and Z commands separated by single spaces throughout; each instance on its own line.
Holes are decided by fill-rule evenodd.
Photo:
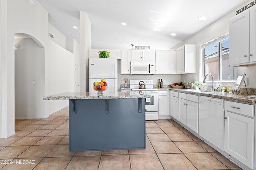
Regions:
M 89 58 L 89 92 L 97 93 L 93 89 L 94 82 L 101 82 L 105 78 L 108 89 L 104 94 L 117 93 L 117 59 Z

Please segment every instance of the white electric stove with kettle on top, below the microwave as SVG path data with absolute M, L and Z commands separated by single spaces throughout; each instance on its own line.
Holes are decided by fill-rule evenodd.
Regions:
M 140 88 L 139 83 L 143 81 L 145 88 Z M 130 80 L 130 89 L 132 91 L 141 91 L 150 93 L 151 98 L 146 99 L 146 120 L 158 120 L 158 89 L 154 88 L 153 80 Z

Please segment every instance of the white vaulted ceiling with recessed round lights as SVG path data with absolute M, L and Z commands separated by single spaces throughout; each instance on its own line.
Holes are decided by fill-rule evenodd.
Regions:
M 130 48 L 134 44 L 158 49 L 177 45 L 245 1 L 38 0 L 49 12 L 49 22 L 78 42 L 79 11 L 86 12 L 92 23 L 92 48 Z M 199 16 L 208 19 L 200 21 Z

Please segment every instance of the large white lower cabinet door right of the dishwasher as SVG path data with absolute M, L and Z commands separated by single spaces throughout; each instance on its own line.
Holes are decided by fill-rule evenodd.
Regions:
M 224 151 L 254 168 L 254 119 L 225 111 Z

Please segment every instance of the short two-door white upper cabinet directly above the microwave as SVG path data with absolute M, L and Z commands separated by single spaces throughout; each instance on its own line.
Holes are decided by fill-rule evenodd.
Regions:
M 155 63 L 154 50 L 132 50 L 132 61 L 152 61 Z

